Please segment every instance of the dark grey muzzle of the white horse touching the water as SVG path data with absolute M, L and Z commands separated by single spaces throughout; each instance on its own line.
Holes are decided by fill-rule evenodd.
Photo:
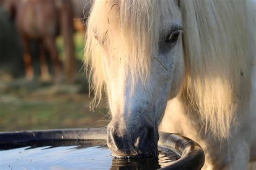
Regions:
M 127 125 L 112 120 L 107 126 L 107 145 L 116 158 L 157 156 L 158 139 L 156 128 L 147 123 Z

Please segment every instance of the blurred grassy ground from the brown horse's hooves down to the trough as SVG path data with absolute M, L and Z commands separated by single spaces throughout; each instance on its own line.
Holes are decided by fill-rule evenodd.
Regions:
M 2 91 L 0 131 L 106 126 L 109 117 L 105 108 L 91 112 L 90 100 L 76 85 Z

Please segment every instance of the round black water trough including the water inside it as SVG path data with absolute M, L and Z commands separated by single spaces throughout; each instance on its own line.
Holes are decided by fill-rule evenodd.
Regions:
M 31 164 L 29 167 L 37 168 L 35 166 L 38 166 L 38 168 L 42 169 L 44 169 L 45 164 L 51 164 L 49 165 L 49 169 L 55 169 L 54 167 L 57 167 L 56 169 L 60 168 L 56 166 L 60 160 L 53 161 L 54 158 L 51 158 L 52 156 L 49 155 L 57 155 L 56 157 L 58 159 L 63 159 L 61 164 L 62 168 L 65 166 L 65 169 L 201 169 L 205 161 L 204 151 L 197 142 L 179 134 L 160 132 L 160 139 L 158 142 L 159 149 L 162 150 L 160 153 L 165 156 L 167 155 L 166 158 L 161 158 L 161 161 L 160 158 L 133 158 L 127 160 L 113 158 L 110 156 L 110 151 L 106 150 L 107 146 L 105 139 L 106 129 L 104 128 L 0 132 L 0 157 L 2 157 L 1 159 L 3 160 L 2 162 L 0 161 L 0 168 L 4 169 L 9 167 L 9 169 L 12 169 L 16 164 L 25 161 L 28 154 L 30 154 L 28 165 Z M 64 151 L 60 151 L 62 147 L 65 147 Z M 78 150 L 86 147 L 98 149 L 97 153 L 94 154 L 91 150 L 89 151 L 86 149 L 84 151 Z M 20 150 L 16 151 L 15 149 L 17 148 Z M 35 148 L 40 149 L 39 151 L 33 151 L 32 153 L 34 156 L 32 157 L 31 153 L 28 152 Z M 43 157 L 41 153 L 45 153 L 49 148 L 55 148 L 55 150 L 51 154 L 46 153 L 47 157 Z M 73 155 L 71 154 L 68 158 L 64 157 L 65 154 L 71 153 L 74 149 L 76 152 L 79 152 Z M 107 164 L 111 164 L 110 160 L 112 160 L 112 165 L 100 165 L 97 167 L 97 164 L 99 165 L 101 162 L 104 162 L 102 160 L 97 160 L 99 159 L 97 158 L 99 151 L 104 151 L 104 154 L 107 155 Z M 9 154 L 8 152 L 11 153 Z M 17 153 L 15 154 L 14 152 Z M 94 156 L 89 156 L 90 159 L 88 159 L 85 157 L 84 153 L 91 153 Z M 174 159 L 168 158 L 171 157 L 170 153 L 172 153 Z M 40 159 L 42 160 L 38 160 L 39 163 L 33 165 L 33 167 L 32 162 L 36 162 L 36 159 L 39 159 L 36 158 L 36 154 L 41 155 Z M 16 158 L 15 155 L 18 155 L 18 157 Z M 14 158 L 16 159 L 16 162 L 14 160 L 10 161 L 10 159 Z M 4 161 L 7 163 L 5 164 Z M 79 162 L 84 162 L 84 164 L 79 165 Z M 90 162 L 92 163 L 90 164 Z M 159 162 L 161 162 L 161 164 Z M 76 165 L 76 167 L 69 167 L 69 163 Z M 26 168 L 22 164 L 19 166 L 16 165 L 16 167 Z

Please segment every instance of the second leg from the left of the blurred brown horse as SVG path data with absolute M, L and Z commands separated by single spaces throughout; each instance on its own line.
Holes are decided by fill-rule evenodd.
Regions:
M 41 80 L 49 81 L 51 79 L 51 76 L 48 70 L 43 42 L 39 42 L 39 59 L 40 59 L 40 69 L 41 69 Z

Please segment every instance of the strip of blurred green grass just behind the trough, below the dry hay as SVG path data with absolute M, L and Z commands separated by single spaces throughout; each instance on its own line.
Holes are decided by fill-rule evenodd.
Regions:
M 14 101 L 4 103 L 0 101 L 0 131 L 107 125 L 108 118 L 102 114 L 106 112 L 103 107 L 92 113 L 89 111 L 89 99 L 81 94 L 76 96 L 31 99 L 17 97 Z

